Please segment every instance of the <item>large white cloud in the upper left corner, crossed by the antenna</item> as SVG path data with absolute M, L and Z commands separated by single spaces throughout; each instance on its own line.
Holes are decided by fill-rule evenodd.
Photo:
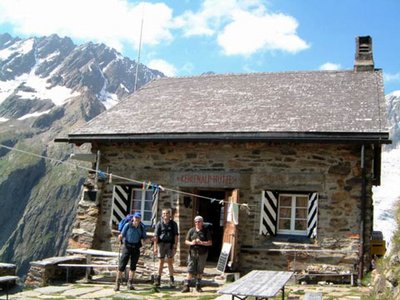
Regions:
M 11 23 L 14 33 L 50 35 L 103 42 L 122 51 L 124 44 L 138 48 L 172 40 L 172 10 L 163 3 L 128 0 L 2 0 L 0 23 Z

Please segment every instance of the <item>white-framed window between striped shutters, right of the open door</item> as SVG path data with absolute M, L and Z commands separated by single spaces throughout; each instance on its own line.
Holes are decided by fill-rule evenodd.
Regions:
M 280 194 L 278 234 L 307 234 L 308 195 Z

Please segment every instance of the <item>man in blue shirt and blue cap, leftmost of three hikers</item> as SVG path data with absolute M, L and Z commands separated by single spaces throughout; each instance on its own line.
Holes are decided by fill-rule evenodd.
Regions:
M 128 290 L 134 290 L 133 278 L 135 277 L 136 265 L 140 256 L 140 247 L 142 246 L 142 239 L 147 239 L 146 229 L 141 222 L 142 215 L 135 213 L 132 221 L 127 222 L 122 229 L 118 239 L 123 243 L 122 253 L 118 264 L 118 274 L 115 283 L 115 291 L 119 291 L 121 285 L 121 278 L 125 272 L 126 265 L 130 260 Z

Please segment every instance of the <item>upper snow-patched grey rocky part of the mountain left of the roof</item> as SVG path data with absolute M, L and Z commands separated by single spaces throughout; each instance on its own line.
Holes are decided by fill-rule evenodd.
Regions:
M 46 114 L 89 92 L 110 108 L 134 92 L 137 64 L 104 44 L 0 35 L 0 121 Z M 136 86 L 164 76 L 140 64 Z

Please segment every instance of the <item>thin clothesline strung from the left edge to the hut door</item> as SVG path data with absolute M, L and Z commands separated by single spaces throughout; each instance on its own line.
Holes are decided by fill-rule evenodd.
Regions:
M 211 203 L 217 201 L 221 205 L 224 204 L 224 203 L 228 203 L 228 204 L 231 203 L 230 201 L 226 201 L 224 199 L 216 199 L 216 198 L 206 197 L 206 196 L 202 196 L 202 195 L 198 195 L 198 194 L 194 194 L 194 193 L 189 193 L 189 192 L 185 192 L 185 191 L 180 191 L 180 190 L 164 187 L 164 186 L 162 186 L 160 184 L 157 184 L 157 183 L 154 183 L 154 182 L 151 182 L 151 181 L 136 180 L 136 179 L 133 179 L 133 178 L 119 176 L 119 175 L 116 175 L 116 174 L 113 174 L 113 173 L 104 172 L 104 171 L 101 171 L 101 170 L 95 170 L 93 168 L 88 168 L 88 167 L 85 167 L 85 166 L 81 166 L 81 165 L 78 165 L 76 163 L 71 163 L 69 161 L 60 160 L 60 159 L 52 158 L 52 157 L 49 157 L 49 156 L 36 154 L 36 153 L 33 153 L 33 152 L 21 150 L 21 149 L 15 148 L 15 147 L 6 146 L 6 145 L 3 145 L 3 144 L 0 144 L 0 147 L 6 148 L 6 149 L 11 150 L 11 151 L 17 151 L 17 152 L 20 152 L 20 153 L 23 153 L 23 154 L 26 154 L 26 155 L 31 155 L 31 156 L 35 156 L 35 157 L 38 157 L 38 158 L 50 160 L 50 161 L 57 162 L 57 163 L 60 163 L 60 164 L 69 165 L 69 166 L 72 166 L 72 167 L 75 167 L 75 168 L 80 168 L 80 169 L 83 169 L 83 170 L 86 170 L 86 171 L 89 171 L 89 172 L 94 172 L 100 178 L 103 178 L 103 179 L 107 179 L 108 178 L 110 183 L 112 182 L 113 178 L 118 178 L 120 180 L 124 180 L 124 181 L 127 181 L 127 182 L 140 184 L 140 185 L 142 185 L 142 188 L 145 188 L 145 189 L 149 189 L 149 188 L 150 189 L 160 189 L 161 191 L 168 191 L 168 192 L 182 194 L 182 195 L 186 195 L 186 196 L 206 199 L 206 200 L 211 201 Z M 252 206 L 252 205 L 249 205 L 247 203 L 235 203 L 235 205 L 239 205 L 239 207 L 241 209 L 245 209 L 248 213 L 250 212 L 250 206 Z

